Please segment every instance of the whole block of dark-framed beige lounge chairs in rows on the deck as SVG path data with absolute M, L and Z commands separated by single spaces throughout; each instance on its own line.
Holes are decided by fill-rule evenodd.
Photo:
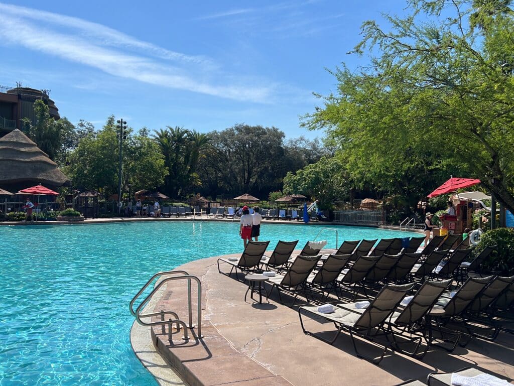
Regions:
M 493 340 L 502 329 L 511 332 L 506 326 L 512 323 L 512 315 L 505 311 L 514 306 L 514 276 L 483 277 L 481 271 L 493 247 L 471 258 L 471 249 L 461 249 L 463 243 L 455 237 L 434 237 L 417 252 L 422 240 L 381 240 L 375 248 L 376 240 L 345 241 L 336 253 L 327 256 L 307 243 L 296 259 L 290 257 L 298 242 L 280 241 L 269 258 L 264 256 L 269 242 L 250 242 L 240 259 L 219 259 L 218 270 L 221 272 L 220 262 L 231 264 L 231 272 L 234 268 L 243 272 L 274 270 L 268 282 L 270 293 L 277 290 L 281 303 L 281 294 L 287 293 L 293 297 L 291 306 L 299 296 L 318 304 L 298 310 L 305 334 L 332 344 L 346 332 L 359 357 L 364 356 L 357 350 L 356 337 L 375 343 L 378 337 L 385 337 L 377 359 L 364 357 L 374 363 L 388 350 L 422 358 L 429 346 L 453 351 L 471 337 Z M 345 299 L 344 293 L 352 294 L 350 302 L 319 305 L 333 301 L 331 295 L 338 301 Z M 364 293 L 365 299 L 355 301 L 359 293 Z M 327 313 L 323 307 L 332 308 Z M 305 316 L 333 322 L 337 329 L 334 338 L 326 340 L 310 333 L 304 325 Z M 448 324 L 457 327 L 448 328 Z M 446 344 L 434 343 L 437 341 Z M 411 350 L 403 348 L 408 345 Z

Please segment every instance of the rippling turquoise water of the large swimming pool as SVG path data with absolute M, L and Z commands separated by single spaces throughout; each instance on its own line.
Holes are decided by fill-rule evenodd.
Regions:
M 418 233 L 331 226 L 339 243 Z M 313 240 L 319 226 L 263 224 L 260 240 Z M 335 232 L 318 240 L 335 247 Z M 157 385 L 132 352 L 128 302 L 150 277 L 241 252 L 236 223 L 0 227 L 0 385 Z

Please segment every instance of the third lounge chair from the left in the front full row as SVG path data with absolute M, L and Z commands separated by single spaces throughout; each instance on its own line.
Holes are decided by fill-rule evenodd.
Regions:
M 476 279 L 469 278 L 466 282 L 456 291 L 443 293 L 435 303 L 434 309 L 441 310 L 441 314 L 437 315 L 437 330 L 440 332 L 442 339 L 453 343 L 451 347 L 445 347 L 439 344 L 434 344 L 437 347 L 443 348 L 448 352 L 453 352 L 457 344 L 459 344 L 462 334 L 456 332 L 455 328 L 448 329 L 442 326 L 444 320 L 454 319 L 466 311 L 467 307 L 473 300 L 484 290 L 484 288 L 491 282 L 493 276 L 486 278 Z M 443 321 L 441 319 L 444 319 Z M 432 344 L 430 341 L 429 344 Z

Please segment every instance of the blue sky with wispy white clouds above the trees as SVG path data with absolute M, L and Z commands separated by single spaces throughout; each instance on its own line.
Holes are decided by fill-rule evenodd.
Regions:
M 0 0 L 0 85 L 51 89 L 61 116 L 101 127 L 114 114 L 136 130 L 200 132 L 235 123 L 287 137 L 336 80 L 363 21 L 403 13 L 403 0 Z

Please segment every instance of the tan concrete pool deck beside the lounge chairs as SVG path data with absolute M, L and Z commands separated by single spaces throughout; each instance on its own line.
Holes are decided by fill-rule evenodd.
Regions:
M 223 257 L 229 256 L 240 256 L 240 253 Z M 247 284 L 218 273 L 217 259 L 197 260 L 177 267 L 201 280 L 204 339 L 193 336 L 186 342 L 181 340 L 181 332 L 174 331 L 170 342 L 167 328 L 164 334 L 160 326 L 141 329 L 145 339 L 153 341 L 157 351 L 190 386 L 390 386 L 410 378 L 425 381 L 431 372 L 452 372 L 466 366 L 514 378 L 514 336 L 505 333 L 495 342 L 473 339 L 453 354 L 431 348 L 423 361 L 397 353 L 389 353 L 379 366 L 359 359 L 344 333 L 333 346 L 304 335 L 298 307 L 281 305 L 276 292 L 269 303 L 260 305 L 251 299 L 245 302 Z M 225 272 L 227 268 L 228 265 L 222 267 Z M 193 323 L 196 323 L 195 299 L 193 291 Z M 287 296 L 283 299 L 290 303 Z M 173 309 L 186 320 L 187 291 L 183 282 L 168 282 L 163 286 L 153 309 Z M 307 328 L 325 336 L 335 332 L 331 323 L 307 321 Z M 368 355 L 380 351 L 364 341 L 359 348 Z

